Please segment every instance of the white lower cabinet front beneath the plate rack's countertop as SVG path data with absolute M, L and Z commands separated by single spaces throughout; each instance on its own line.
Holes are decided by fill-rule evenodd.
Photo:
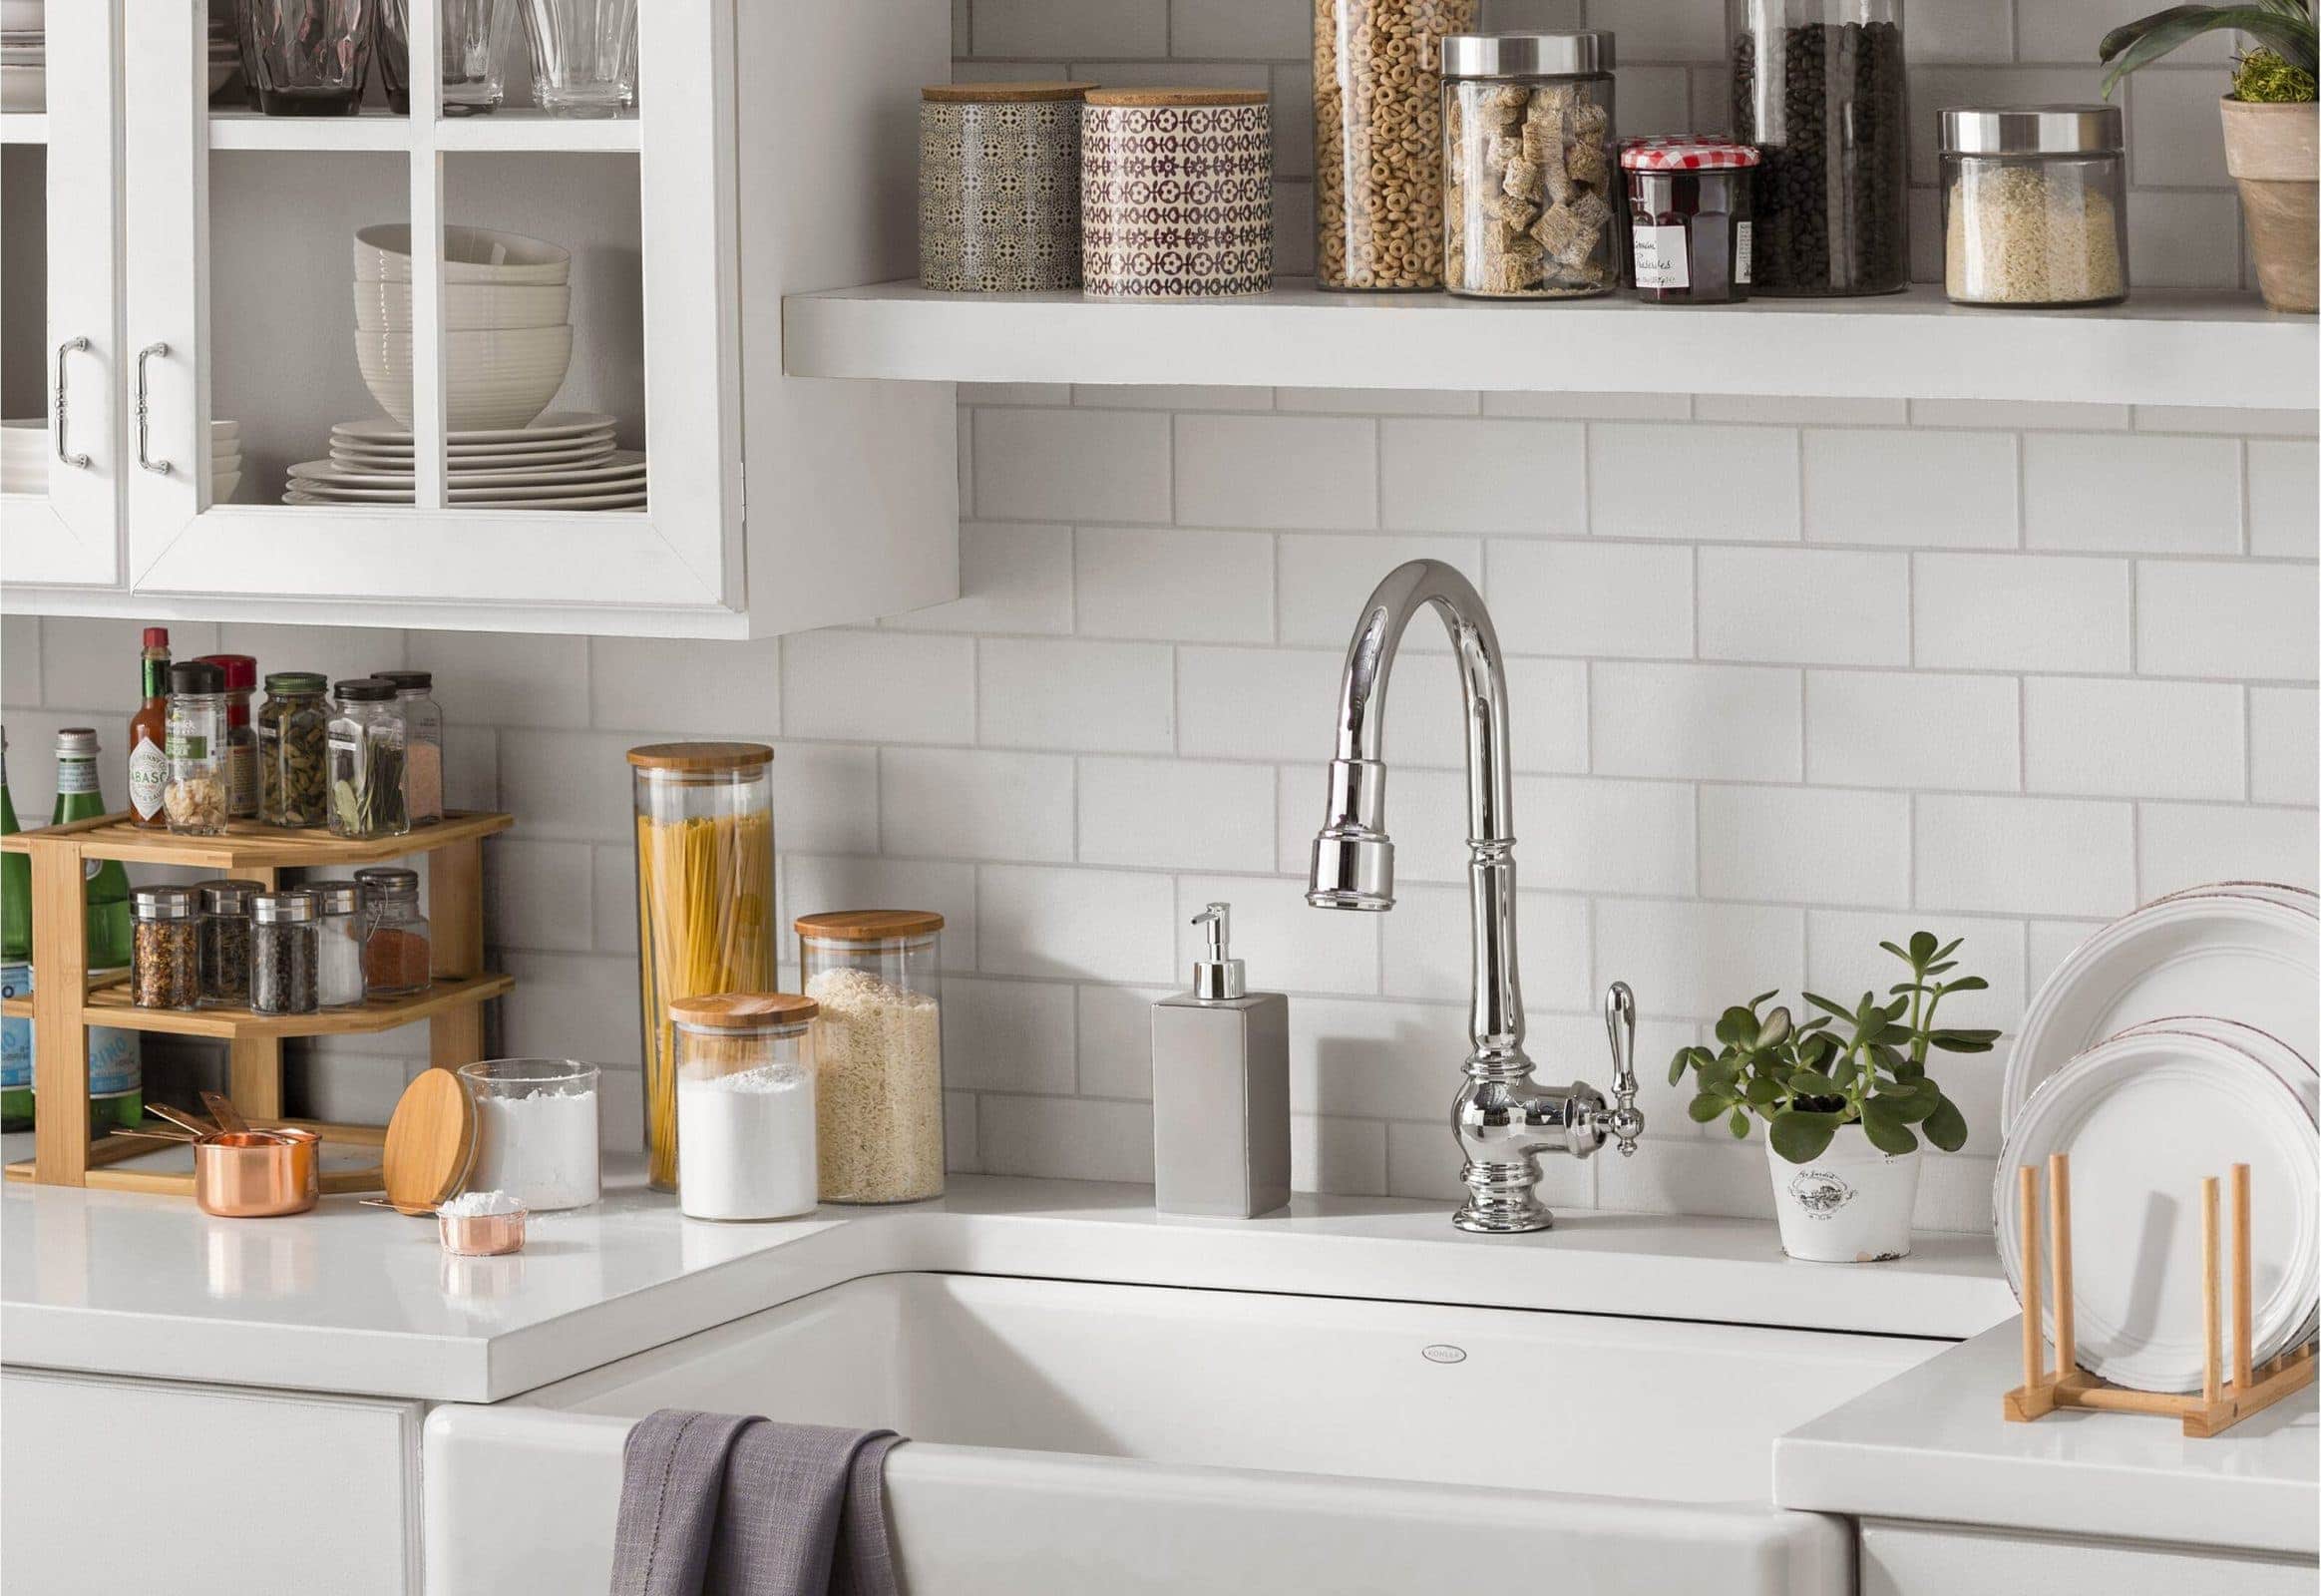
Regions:
M 1859 1596 L 2314 1596 L 2314 1575 L 2309 1557 L 1861 1519 Z

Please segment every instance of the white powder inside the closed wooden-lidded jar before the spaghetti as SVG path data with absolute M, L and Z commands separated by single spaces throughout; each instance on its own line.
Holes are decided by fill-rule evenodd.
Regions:
M 678 1076 L 678 1206 L 696 1220 L 815 1211 L 815 1076 L 757 1065 Z

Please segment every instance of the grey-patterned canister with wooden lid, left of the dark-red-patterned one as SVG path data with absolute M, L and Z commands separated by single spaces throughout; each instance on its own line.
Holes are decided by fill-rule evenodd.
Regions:
M 1079 100 L 1089 88 L 919 90 L 919 288 L 1079 288 Z

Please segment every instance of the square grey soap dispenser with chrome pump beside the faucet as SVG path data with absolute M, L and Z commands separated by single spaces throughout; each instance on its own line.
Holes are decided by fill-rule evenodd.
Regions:
M 1193 923 L 1193 991 L 1154 1004 L 1154 1206 L 1246 1220 L 1290 1199 L 1290 1000 L 1246 991 L 1232 905 Z

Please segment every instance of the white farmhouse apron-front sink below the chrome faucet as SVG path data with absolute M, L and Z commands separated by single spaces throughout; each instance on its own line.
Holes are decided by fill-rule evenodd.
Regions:
M 427 1420 L 429 1596 L 603 1589 L 655 1408 L 912 1436 L 910 1596 L 1848 1596 L 1771 1443 L 1943 1341 L 949 1274 L 849 1281 Z

